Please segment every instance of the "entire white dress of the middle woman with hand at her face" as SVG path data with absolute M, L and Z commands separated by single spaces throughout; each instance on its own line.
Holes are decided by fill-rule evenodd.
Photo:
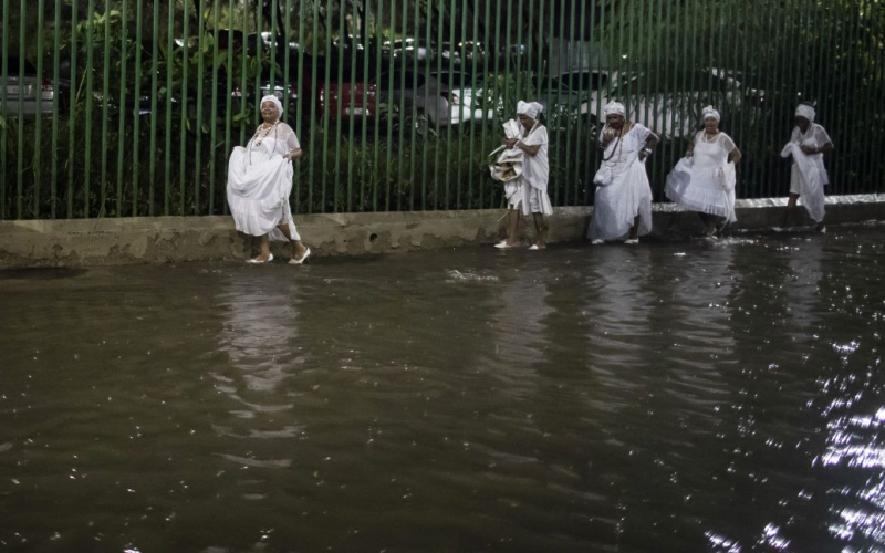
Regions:
M 643 125 L 634 123 L 626 135 L 606 146 L 596 174 L 593 218 L 587 229 L 591 240 L 623 237 L 629 232 L 636 216 L 639 216 L 639 234 L 652 231 L 652 187 L 648 185 L 645 163 L 639 160 L 639 152 L 650 133 Z

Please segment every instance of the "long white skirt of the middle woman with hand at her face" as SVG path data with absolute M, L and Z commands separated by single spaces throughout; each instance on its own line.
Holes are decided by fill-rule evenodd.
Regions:
M 636 216 L 639 216 L 639 234 L 652 232 L 652 187 L 645 164 L 638 159 L 611 185 L 596 187 L 587 238 L 621 238 L 629 232 Z

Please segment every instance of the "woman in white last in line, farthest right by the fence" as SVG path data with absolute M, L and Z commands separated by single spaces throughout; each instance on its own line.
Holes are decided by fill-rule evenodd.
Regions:
M 826 232 L 823 223 L 824 194 L 823 187 L 830 184 L 830 176 L 823 164 L 823 155 L 833 150 L 833 142 L 821 125 L 814 123 L 816 113 L 806 104 L 800 104 L 795 111 L 795 127 L 790 142 L 783 147 L 781 156 L 793 157 L 790 173 L 790 199 L 783 213 L 782 227 L 788 227 L 795 213 L 796 200 L 802 205 L 818 225 L 820 232 Z M 780 230 L 775 227 L 774 230 Z

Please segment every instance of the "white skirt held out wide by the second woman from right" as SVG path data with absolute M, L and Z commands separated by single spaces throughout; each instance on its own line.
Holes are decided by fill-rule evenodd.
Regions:
M 735 222 L 735 164 L 723 167 L 696 167 L 679 159 L 667 175 L 664 194 L 685 209 L 725 217 Z

